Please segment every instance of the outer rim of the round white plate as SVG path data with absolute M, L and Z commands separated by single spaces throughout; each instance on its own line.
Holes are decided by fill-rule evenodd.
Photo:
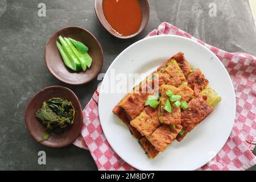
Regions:
M 233 118 L 232 118 L 232 120 L 233 120 L 232 127 L 230 127 L 229 132 L 227 132 L 227 136 L 225 137 L 225 138 L 226 138 L 226 139 L 225 139 L 225 142 L 224 142 L 224 144 L 222 145 L 222 147 L 220 148 L 220 150 L 218 150 L 218 151 L 216 152 L 216 155 L 212 155 L 212 156 L 208 159 L 208 161 L 207 161 L 206 163 L 203 163 L 203 164 L 200 166 L 200 167 L 203 167 L 205 164 L 209 163 L 213 158 L 215 158 L 215 157 L 217 156 L 217 154 L 221 151 L 221 149 L 225 146 L 226 142 L 227 142 L 228 139 L 229 139 L 230 134 L 232 133 L 232 130 L 233 130 L 233 127 L 234 127 L 234 121 L 235 121 L 235 119 L 236 119 L 236 93 L 235 93 L 235 90 L 234 90 L 234 85 L 233 85 L 233 82 L 232 82 L 232 78 L 230 77 L 230 75 L 229 75 L 227 69 L 225 68 L 225 66 L 224 66 L 224 64 L 221 62 L 221 60 L 218 59 L 218 57 L 217 57 L 212 51 L 210 51 L 209 48 L 203 46 L 202 44 L 200 44 L 199 42 L 196 42 L 196 41 L 193 40 L 193 39 L 189 39 L 189 38 L 186 38 L 186 37 L 184 37 L 184 36 L 179 36 L 179 35 L 157 35 L 157 36 L 146 37 L 146 38 L 144 38 L 144 39 L 138 40 L 137 42 L 131 44 L 129 47 L 125 48 L 121 53 L 119 53 L 119 55 L 118 55 L 117 57 L 115 57 L 115 59 L 114 59 L 114 61 L 112 62 L 112 64 L 110 64 L 108 70 L 106 71 L 106 75 L 107 75 L 107 73 L 109 73 L 110 69 L 112 69 L 113 65 L 114 65 L 115 62 L 119 59 L 119 57 L 121 57 L 122 54 L 123 54 L 124 52 L 126 52 L 128 49 L 130 49 L 131 47 L 135 46 L 136 44 L 139 44 L 139 43 L 141 43 L 141 42 L 144 42 L 144 41 L 146 41 L 146 40 L 148 40 L 148 39 L 156 39 L 156 38 L 159 38 L 159 37 L 180 38 L 180 39 L 185 39 L 185 40 L 188 40 L 189 42 L 193 42 L 193 43 L 198 44 L 201 48 L 203 48 L 203 49 L 205 49 L 206 51 L 208 51 L 208 52 L 210 53 L 210 55 L 212 55 L 215 59 L 218 60 L 218 62 L 220 63 L 221 67 L 224 69 L 225 74 L 228 76 L 229 82 L 230 82 L 231 85 L 232 85 L 233 102 L 234 102 L 234 106 L 233 106 L 233 108 L 232 108 L 232 110 L 234 111 L 234 115 L 233 115 Z M 101 82 L 101 86 L 104 84 L 104 80 L 105 80 L 105 77 L 104 77 L 104 79 L 103 79 L 102 82 Z M 98 114 L 99 114 L 100 123 L 101 123 L 101 127 L 102 127 L 102 122 L 101 122 L 101 109 L 100 109 L 100 107 L 101 107 L 101 93 L 102 93 L 102 90 L 100 89 L 99 98 L 98 98 Z M 106 140 L 108 141 L 110 147 L 112 148 L 112 150 L 113 150 L 122 160 L 124 160 L 127 164 L 129 164 L 130 166 L 132 166 L 132 167 L 134 167 L 134 168 L 136 168 L 136 169 L 138 169 L 138 170 L 140 170 L 140 171 L 143 171 L 143 170 L 144 170 L 144 169 L 142 169 L 142 168 L 140 168 L 140 167 L 138 167 L 138 166 L 134 166 L 134 165 L 130 164 L 129 161 L 123 159 L 123 158 L 121 157 L 122 154 L 119 154 L 119 152 L 114 149 L 114 147 L 112 146 L 111 142 L 109 142 L 108 134 L 106 135 L 106 129 L 105 129 L 104 127 L 102 127 L 102 131 L 103 131 L 103 133 L 104 133 L 104 135 L 105 135 L 105 138 L 106 138 Z M 200 168 L 200 167 L 198 167 L 198 168 Z M 191 171 L 196 170 L 196 169 L 198 169 L 198 168 L 195 168 L 195 169 L 193 168 L 193 169 L 191 169 Z

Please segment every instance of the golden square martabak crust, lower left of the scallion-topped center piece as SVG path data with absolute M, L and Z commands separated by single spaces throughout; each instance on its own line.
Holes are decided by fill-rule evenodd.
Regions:
M 157 109 L 150 106 L 145 107 L 141 114 L 131 121 L 131 126 L 135 127 L 142 135 L 150 136 L 160 125 Z

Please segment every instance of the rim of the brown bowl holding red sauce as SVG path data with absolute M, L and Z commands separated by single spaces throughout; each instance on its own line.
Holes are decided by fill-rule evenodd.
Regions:
M 146 1 L 146 6 L 148 7 L 148 11 L 146 12 L 146 17 L 147 17 L 147 18 L 146 18 L 146 24 L 145 24 L 145 26 L 143 26 L 142 28 L 140 28 L 135 34 L 128 35 L 128 36 L 121 36 L 121 35 L 115 34 L 114 32 L 108 30 L 108 28 L 106 28 L 106 27 L 103 25 L 104 21 L 106 21 L 106 22 L 108 23 L 108 20 L 106 20 L 104 14 L 103 14 L 104 20 L 103 20 L 102 18 L 100 18 L 100 16 L 99 16 L 100 13 L 98 12 L 98 9 L 97 9 L 97 8 L 99 7 L 99 6 L 97 6 L 97 2 L 98 2 L 98 1 L 104 1 L 104 0 L 95 0 L 95 1 L 94 1 L 94 11 L 95 11 L 95 13 L 96 13 L 96 16 L 97 16 L 98 20 L 100 21 L 101 25 L 105 28 L 105 30 L 108 31 L 111 35 L 115 36 L 116 38 L 119 38 L 119 39 L 131 39 L 131 38 L 134 38 L 135 36 L 141 34 L 141 32 L 147 27 L 148 21 L 149 21 L 149 19 L 150 19 L 150 2 L 149 2 L 148 0 L 145 0 L 145 1 Z M 103 8 L 102 8 L 102 5 L 101 5 L 100 7 L 101 7 L 101 9 L 103 9 Z M 102 11 L 103 11 L 103 10 L 102 10 Z M 142 17 L 142 19 L 143 19 L 143 17 Z M 110 25 L 109 25 L 109 26 L 110 26 Z M 111 26 L 110 26 L 110 27 L 111 27 Z

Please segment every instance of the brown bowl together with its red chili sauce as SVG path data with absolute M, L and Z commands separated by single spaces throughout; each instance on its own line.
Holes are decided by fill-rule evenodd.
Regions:
M 140 34 L 150 17 L 148 0 L 96 0 L 94 8 L 102 26 L 121 39 Z

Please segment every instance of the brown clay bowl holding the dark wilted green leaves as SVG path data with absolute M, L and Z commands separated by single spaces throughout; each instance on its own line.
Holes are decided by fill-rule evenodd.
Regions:
M 42 138 L 46 127 L 42 125 L 36 118 L 36 111 L 42 108 L 43 102 L 53 97 L 65 98 L 72 102 L 75 108 L 75 121 L 72 126 L 65 127 L 62 134 L 57 135 L 54 132 L 51 133 L 51 137 L 48 140 L 41 142 L 44 146 L 59 148 L 71 144 L 80 134 L 82 127 L 82 108 L 79 99 L 72 90 L 63 86 L 49 86 L 32 97 L 31 101 L 27 105 L 25 114 L 25 122 L 28 133 L 39 142 Z

